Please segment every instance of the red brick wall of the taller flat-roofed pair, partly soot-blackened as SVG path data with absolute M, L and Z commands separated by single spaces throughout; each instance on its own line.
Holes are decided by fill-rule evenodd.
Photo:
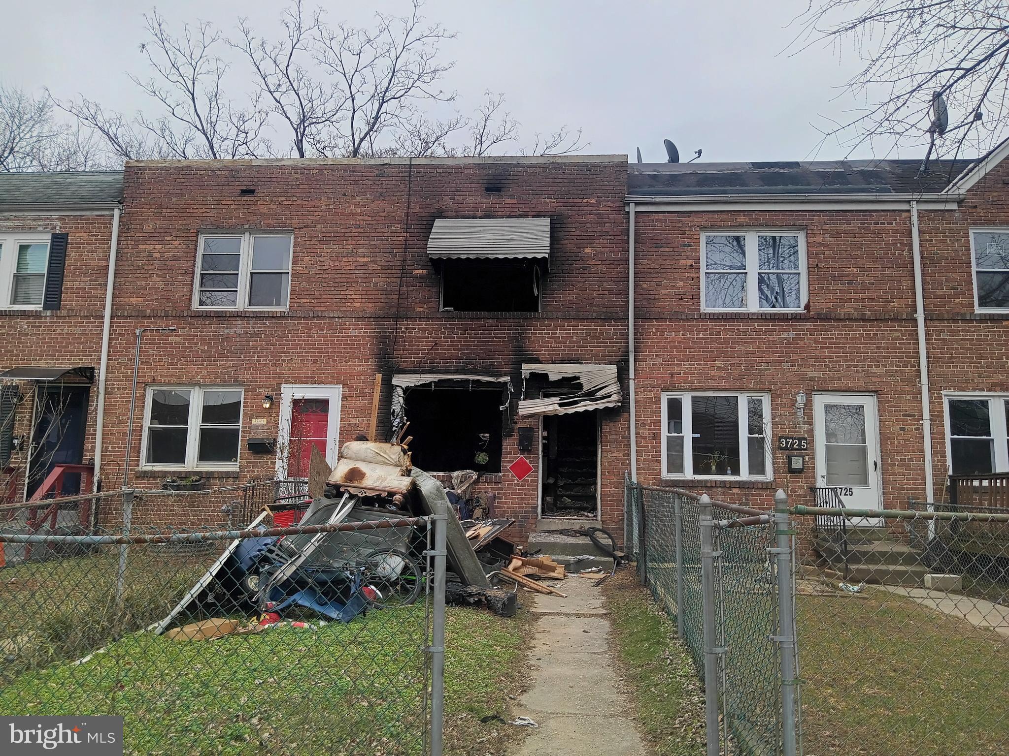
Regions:
M 485 186 L 500 186 L 487 193 Z M 407 190 L 410 224 L 404 254 Z M 240 197 L 241 187 L 255 187 Z M 133 331 L 175 326 L 144 337 L 138 405 L 150 383 L 237 383 L 245 388 L 240 475 L 274 470 L 272 456 L 244 449 L 251 436 L 275 436 L 282 384 L 343 387 L 339 440 L 366 433 L 373 376 L 382 372 L 379 428 L 387 429 L 388 378 L 400 371 L 481 371 L 511 375 L 521 389 L 524 362 L 615 364 L 627 374 L 626 164 L 606 161 L 129 164 L 120 233 L 115 327 L 109 366 L 110 417 L 125 417 L 132 376 Z M 473 316 L 438 310 L 438 277 L 427 238 L 439 217 L 551 218 L 550 272 L 542 311 Z M 190 307 L 197 239 L 202 230 L 294 232 L 291 309 L 207 312 Z M 489 282 L 488 282 L 489 284 Z M 252 424 L 265 419 L 266 424 Z M 137 423 L 139 427 L 139 422 Z M 538 421 L 519 419 L 517 426 Z M 602 519 L 618 531 L 628 468 L 626 406 L 603 413 Z M 384 432 L 384 430 L 383 430 Z M 106 430 L 110 459 L 124 453 L 124 422 Z M 132 465 L 139 460 L 139 430 Z M 504 438 L 496 514 L 537 517 L 539 481 L 503 470 L 518 457 Z M 537 454 L 527 455 L 538 467 Z M 165 473 L 138 472 L 155 486 Z

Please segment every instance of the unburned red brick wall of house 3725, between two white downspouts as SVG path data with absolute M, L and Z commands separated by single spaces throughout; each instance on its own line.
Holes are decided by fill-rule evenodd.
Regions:
M 769 507 L 784 488 L 810 504 L 815 485 L 812 394 L 875 393 L 884 501 L 922 496 L 922 444 L 908 212 L 639 213 L 638 477 L 661 481 L 661 401 L 666 390 L 765 391 L 772 444 L 809 439 L 805 472 L 786 472 L 773 452 L 771 482 L 667 481 L 712 498 Z M 809 303 L 800 313 L 700 311 L 700 234 L 713 229 L 801 229 Z M 799 391 L 807 396 L 800 418 Z

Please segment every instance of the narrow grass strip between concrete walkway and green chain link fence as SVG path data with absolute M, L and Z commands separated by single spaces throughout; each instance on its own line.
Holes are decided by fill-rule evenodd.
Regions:
M 704 753 L 704 697 L 676 625 L 631 570 L 603 584 L 616 654 L 637 719 L 659 756 Z

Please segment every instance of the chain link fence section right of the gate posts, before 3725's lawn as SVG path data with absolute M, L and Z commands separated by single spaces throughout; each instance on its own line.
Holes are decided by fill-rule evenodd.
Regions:
M 1009 752 L 1009 511 L 794 512 L 802 751 Z

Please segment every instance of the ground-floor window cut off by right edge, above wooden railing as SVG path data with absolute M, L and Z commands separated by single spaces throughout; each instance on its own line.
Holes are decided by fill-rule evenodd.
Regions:
M 949 472 L 1009 472 L 1009 394 L 947 394 L 945 405 Z

